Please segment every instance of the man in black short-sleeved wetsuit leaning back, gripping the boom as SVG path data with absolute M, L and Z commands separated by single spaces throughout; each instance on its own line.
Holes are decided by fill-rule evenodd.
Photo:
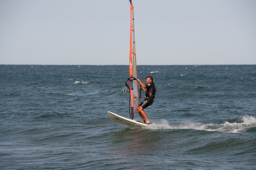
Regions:
M 147 85 L 145 85 L 140 79 L 137 78 L 137 80 L 138 80 L 138 82 L 140 82 L 141 89 L 143 89 L 146 92 L 146 98 L 137 107 L 137 112 L 139 113 L 139 115 L 144 123 L 149 123 L 148 116 L 146 115 L 146 112 L 144 111 L 144 109 L 153 104 L 154 98 L 155 98 L 155 93 L 156 93 L 156 86 L 153 83 L 152 76 L 146 77 Z

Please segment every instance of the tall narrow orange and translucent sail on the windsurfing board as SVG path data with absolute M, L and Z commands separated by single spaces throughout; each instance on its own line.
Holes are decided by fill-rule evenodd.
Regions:
M 135 50 L 135 35 L 134 35 L 134 11 L 133 4 L 130 0 L 130 97 L 131 97 L 131 119 L 139 104 L 138 81 L 137 79 L 137 64 Z M 135 79 L 133 79 L 135 78 Z

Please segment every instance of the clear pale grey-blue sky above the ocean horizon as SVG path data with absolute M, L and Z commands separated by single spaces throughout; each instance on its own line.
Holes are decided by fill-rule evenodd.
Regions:
M 256 0 L 132 0 L 137 65 L 256 64 Z M 0 0 L 0 64 L 129 65 L 129 0 Z

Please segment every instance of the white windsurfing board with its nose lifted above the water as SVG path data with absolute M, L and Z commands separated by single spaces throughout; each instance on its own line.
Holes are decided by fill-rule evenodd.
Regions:
M 136 120 L 129 119 L 129 118 L 126 118 L 123 116 L 119 116 L 112 112 L 108 112 L 108 116 L 110 116 L 110 118 L 115 120 L 116 122 L 127 125 L 127 126 L 133 126 L 133 127 L 134 126 L 142 126 L 142 127 L 148 126 L 148 124 L 143 123 L 141 121 L 136 121 Z

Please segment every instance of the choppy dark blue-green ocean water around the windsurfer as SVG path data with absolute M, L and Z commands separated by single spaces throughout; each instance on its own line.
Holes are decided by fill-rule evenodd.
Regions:
M 139 65 L 157 88 L 148 128 L 107 115 L 129 117 L 128 76 L 128 65 L 0 65 L 0 169 L 256 169 L 256 65 Z

